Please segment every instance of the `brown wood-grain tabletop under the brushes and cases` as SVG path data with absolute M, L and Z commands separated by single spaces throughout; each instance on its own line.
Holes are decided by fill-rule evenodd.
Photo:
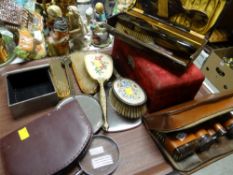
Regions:
M 18 65 L 9 65 L 0 69 L 0 138 L 15 129 L 21 128 L 36 118 L 39 118 L 52 109 L 45 109 L 17 120 L 13 119 L 7 106 L 4 74 L 11 70 L 46 64 L 47 62 L 48 59 L 43 59 Z M 77 85 L 75 88 L 78 88 Z M 108 133 L 106 135 L 115 140 L 120 150 L 120 163 L 114 175 L 167 174 L 172 171 L 171 166 L 164 160 L 143 125 L 132 130 Z M 2 159 L 0 159 L 0 175 L 4 174 L 3 162 Z

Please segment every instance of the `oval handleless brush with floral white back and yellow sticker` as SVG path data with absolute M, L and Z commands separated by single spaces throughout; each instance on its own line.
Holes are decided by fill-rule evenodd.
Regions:
M 133 80 L 115 80 L 109 90 L 109 98 L 113 108 L 126 118 L 136 119 L 147 112 L 146 94 Z

